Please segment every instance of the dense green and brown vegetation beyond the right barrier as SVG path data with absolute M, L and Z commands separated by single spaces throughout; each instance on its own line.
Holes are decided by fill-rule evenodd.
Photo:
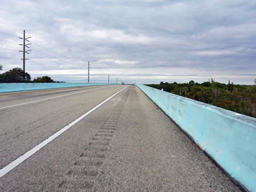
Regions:
M 256 79 L 254 85 L 224 84 L 211 78 L 201 84 L 161 82 L 148 86 L 256 118 Z

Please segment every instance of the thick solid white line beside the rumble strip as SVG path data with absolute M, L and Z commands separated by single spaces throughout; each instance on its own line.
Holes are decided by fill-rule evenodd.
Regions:
M 129 85 L 128 85 L 129 86 Z M 124 87 L 124 89 L 126 89 L 128 86 Z M 109 99 L 113 98 L 116 94 L 120 93 L 121 91 L 123 91 L 124 89 L 118 91 L 117 93 L 113 94 L 112 96 L 110 96 L 108 99 L 106 99 L 105 101 L 101 102 L 99 105 L 93 107 L 91 110 L 87 111 L 84 115 L 82 115 L 81 117 L 78 117 L 75 121 L 69 123 L 67 126 L 63 127 L 61 130 L 59 130 L 58 132 L 54 133 L 52 136 L 50 136 L 49 138 L 45 139 L 43 142 L 39 143 L 37 146 L 35 146 L 33 149 L 30 149 L 29 151 L 27 151 L 25 154 L 23 154 L 22 156 L 18 157 L 17 159 L 15 159 L 13 162 L 11 162 L 9 165 L 6 165 L 5 167 L 3 167 L 0 170 L 0 178 L 3 177 L 6 173 L 8 173 L 9 171 L 11 171 L 14 167 L 18 166 L 20 163 L 22 163 L 23 161 L 25 161 L 28 157 L 30 157 L 31 155 L 33 155 L 34 153 L 36 153 L 36 151 L 38 151 L 39 149 L 42 149 L 44 146 L 46 146 L 49 142 L 51 142 L 53 139 L 57 138 L 59 135 L 61 135 L 63 132 L 67 131 L 71 126 L 75 125 L 77 122 L 81 121 L 81 119 L 83 119 L 84 117 L 86 117 L 87 115 L 89 115 L 90 113 L 92 113 L 92 111 L 94 111 L 95 109 L 97 109 L 98 107 L 102 106 L 105 102 L 107 102 Z

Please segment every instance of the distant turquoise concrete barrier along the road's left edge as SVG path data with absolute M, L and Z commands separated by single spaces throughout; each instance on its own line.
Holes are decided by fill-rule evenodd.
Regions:
M 116 83 L 0 83 L 0 93 L 114 84 Z

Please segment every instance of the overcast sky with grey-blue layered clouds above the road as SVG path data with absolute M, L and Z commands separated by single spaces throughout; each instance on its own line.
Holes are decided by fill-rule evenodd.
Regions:
M 0 32 L 13 35 L 0 33 L 3 71 L 22 68 L 13 50 L 21 50 L 14 43 L 25 29 L 32 78 L 86 82 L 89 60 L 91 82 L 107 74 L 137 83 L 256 78 L 256 1 L 2 0 L 0 7 Z

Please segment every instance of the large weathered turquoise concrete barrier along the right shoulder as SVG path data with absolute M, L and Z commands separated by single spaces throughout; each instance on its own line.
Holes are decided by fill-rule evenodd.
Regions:
M 256 118 L 145 85 L 137 85 L 231 179 L 256 191 Z

